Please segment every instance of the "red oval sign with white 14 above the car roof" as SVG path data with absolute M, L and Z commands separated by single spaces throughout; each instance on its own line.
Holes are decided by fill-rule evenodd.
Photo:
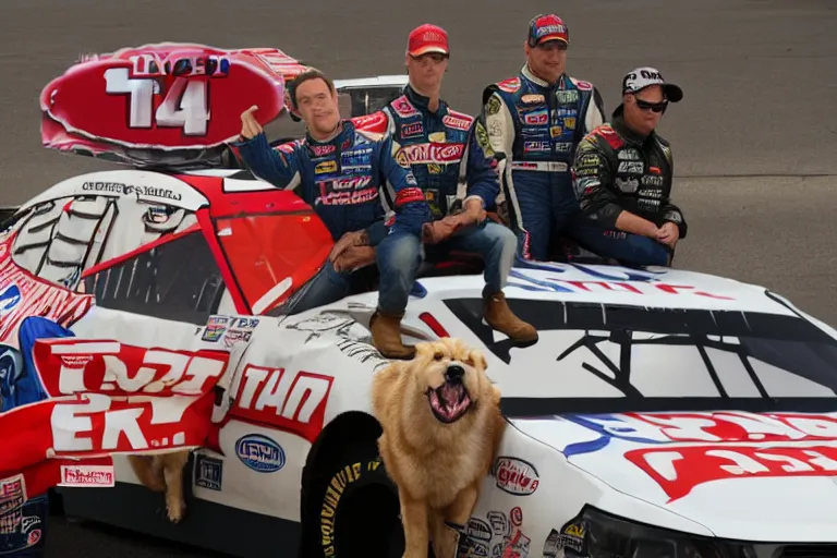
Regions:
M 277 49 L 181 43 L 87 56 L 41 92 L 41 138 L 94 155 L 222 146 L 252 105 L 263 125 L 278 118 L 284 82 L 304 70 Z

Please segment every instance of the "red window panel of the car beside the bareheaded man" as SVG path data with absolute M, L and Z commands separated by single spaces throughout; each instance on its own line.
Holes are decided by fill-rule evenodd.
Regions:
M 269 310 L 305 283 L 331 248 L 311 216 L 258 215 L 216 221 L 218 241 L 254 314 Z

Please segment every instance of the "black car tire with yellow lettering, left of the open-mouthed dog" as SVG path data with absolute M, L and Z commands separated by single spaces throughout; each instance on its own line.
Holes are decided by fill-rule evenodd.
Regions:
M 401 558 L 398 490 L 375 439 L 352 440 L 320 465 L 305 489 L 305 556 Z M 316 543 L 315 543 L 316 539 Z

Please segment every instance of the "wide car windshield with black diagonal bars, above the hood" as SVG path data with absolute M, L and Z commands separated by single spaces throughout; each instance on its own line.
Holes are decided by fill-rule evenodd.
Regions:
M 508 363 L 489 375 L 510 416 L 837 410 L 837 340 L 790 312 L 514 300 L 541 336 L 520 349 L 495 340 L 478 301 L 446 305 Z

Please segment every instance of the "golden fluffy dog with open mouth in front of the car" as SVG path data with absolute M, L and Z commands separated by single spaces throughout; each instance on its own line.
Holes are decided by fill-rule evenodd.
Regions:
M 453 558 L 502 437 L 500 390 L 485 356 L 458 339 L 415 345 L 412 361 L 375 375 L 372 407 L 380 457 L 398 486 L 404 558 Z M 447 524 L 447 525 L 446 525 Z

